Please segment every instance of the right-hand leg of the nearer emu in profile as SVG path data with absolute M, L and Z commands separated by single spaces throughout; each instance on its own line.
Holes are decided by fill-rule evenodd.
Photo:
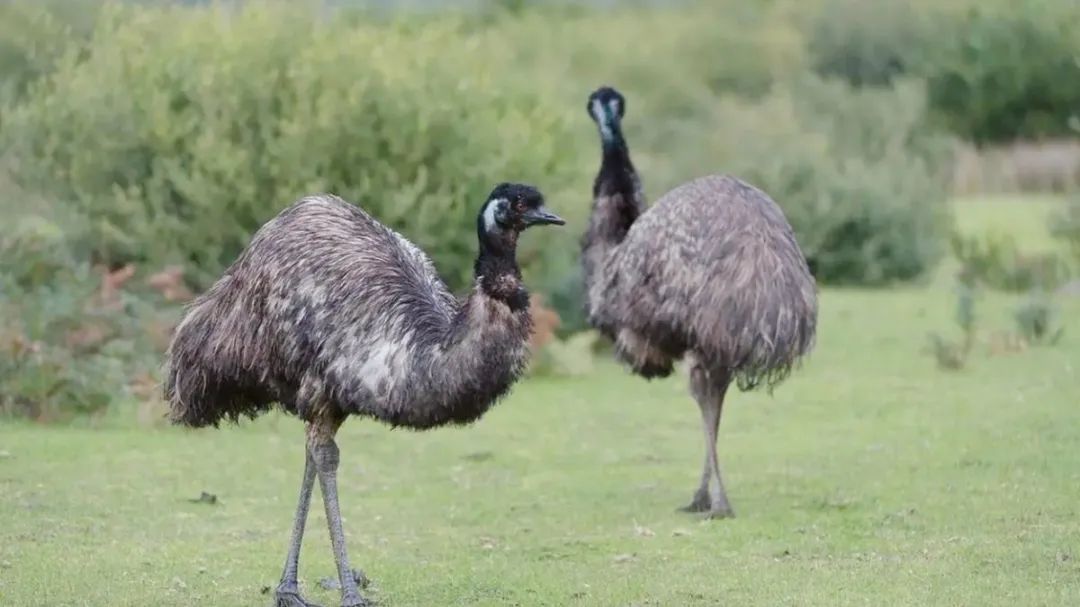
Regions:
M 338 579 L 341 582 L 341 607 L 366 607 L 367 601 L 360 595 L 356 579 L 349 568 L 349 555 L 345 548 L 345 530 L 341 528 L 341 510 L 337 497 L 337 469 L 340 451 L 334 442 L 334 434 L 341 426 L 341 419 L 321 420 L 308 427 L 308 448 L 315 460 L 319 471 L 319 485 L 323 490 L 323 504 L 326 507 L 326 523 L 330 531 L 330 544 L 334 545 L 334 561 L 338 567 Z

